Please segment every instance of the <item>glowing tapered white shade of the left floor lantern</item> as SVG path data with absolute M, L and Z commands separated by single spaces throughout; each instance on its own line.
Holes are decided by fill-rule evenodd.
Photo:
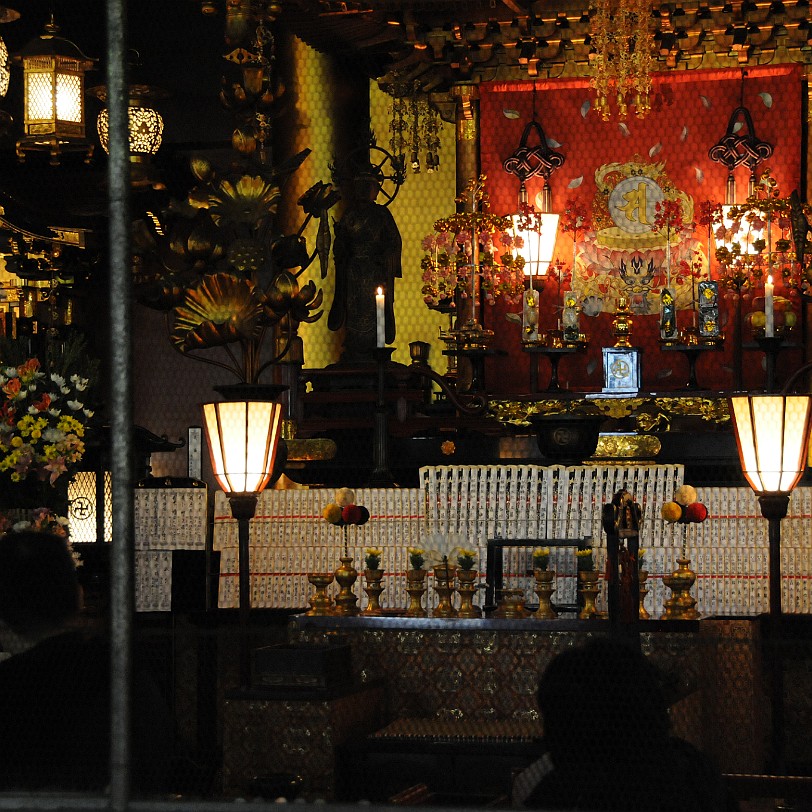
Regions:
M 203 404 L 214 476 L 226 493 L 258 493 L 268 484 L 282 431 L 283 407 L 256 400 Z

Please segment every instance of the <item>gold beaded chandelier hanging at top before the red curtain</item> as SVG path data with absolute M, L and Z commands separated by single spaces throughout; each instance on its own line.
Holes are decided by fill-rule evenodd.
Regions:
M 650 17 L 646 0 L 597 0 L 595 4 L 589 61 L 596 106 L 604 121 L 611 118 L 611 93 L 621 119 L 626 118 L 630 101 L 638 118 L 651 109 L 654 36 Z

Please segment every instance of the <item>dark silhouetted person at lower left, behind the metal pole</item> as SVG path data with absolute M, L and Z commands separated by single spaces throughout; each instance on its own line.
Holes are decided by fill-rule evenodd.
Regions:
M 80 608 L 65 539 L 0 537 L 0 790 L 101 791 L 108 783 L 109 646 L 82 627 Z M 172 733 L 165 705 L 140 675 L 132 715 L 133 792 L 160 791 Z

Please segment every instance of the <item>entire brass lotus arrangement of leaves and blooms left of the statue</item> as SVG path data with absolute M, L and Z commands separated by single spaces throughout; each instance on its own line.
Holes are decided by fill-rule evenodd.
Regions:
M 246 165 L 222 176 L 194 158 L 198 184 L 134 236 L 139 302 L 166 312 L 175 349 L 245 383 L 257 383 L 299 325 L 322 315 L 322 291 L 299 279 L 323 252 L 307 250 L 304 227 L 289 235 L 274 228 L 284 175 L 304 157 L 281 170 Z M 318 218 L 320 236 L 337 199 L 322 183 L 302 196 L 305 222 Z

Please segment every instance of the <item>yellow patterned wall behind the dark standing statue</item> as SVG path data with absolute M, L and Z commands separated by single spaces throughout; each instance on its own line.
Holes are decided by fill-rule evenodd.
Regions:
M 295 173 L 287 187 L 286 197 L 298 196 L 317 180 L 330 180 L 328 163 L 333 159 L 333 123 L 330 119 L 331 86 L 329 66 L 324 56 L 312 50 L 300 40 L 294 42 L 294 59 L 297 70 L 290 88 L 295 99 L 296 127 L 293 149 L 309 147 L 313 153 Z M 370 116 L 372 130 L 378 144 L 389 147 L 389 96 L 381 92 L 373 82 L 370 87 Z M 395 322 L 397 324 L 397 350 L 395 361 L 409 363 L 409 342 L 426 341 L 432 345 L 429 361 L 438 372 L 445 372 L 447 363 L 441 352 L 444 345 L 438 340 L 439 329 L 448 328 L 448 317 L 429 310 L 423 303 L 420 242 L 430 233 L 438 217 L 454 211 L 454 127 L 444 123 L 441 128 L 440 169 L 432 174 L 425 171 L 415 175 L 411 171 L 406 183 L 391 205 L 392 214 L 403 238 L 403 279 L 395 285 Z M 332 217 L 335 210 L 331 212 Z M 335 214 L 337 216 L 337 214 Z M 286 224 L 287 225 L 287 224 Z M 316 240 L 317 224 L 310 223 L 305 237 L 310 250 Z M 340 334 L 327 329 L 327 313 L 333 301 L 334 268 L 332 253 L 330 272 L 326 279 L 320 278 L 318 263 L 303 276 L 302 282 L 313 279 L 324 291 L 324 315 L 315 324 L 304 324 L 299 334 L 305 348 L 305 366 L 321 368 L 335 363 L 341 352 Z

